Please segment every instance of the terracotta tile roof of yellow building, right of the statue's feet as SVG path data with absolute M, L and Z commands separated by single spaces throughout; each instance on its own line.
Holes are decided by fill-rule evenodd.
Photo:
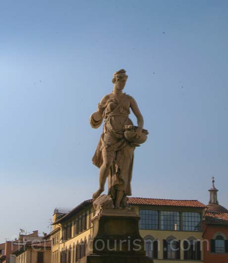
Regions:
M 204 204 L 202 204 L 197 200 L 172 200 L 172 199 L 154 199 L 154 198 L 141 198 L 141 197 L 129 197 L 128 204 L 206 208 Z

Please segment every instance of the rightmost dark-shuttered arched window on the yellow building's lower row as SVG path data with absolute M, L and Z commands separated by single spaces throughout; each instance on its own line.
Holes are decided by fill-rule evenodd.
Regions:
M 184 240 L 184 260 L 201 260 L 199 240 Z

